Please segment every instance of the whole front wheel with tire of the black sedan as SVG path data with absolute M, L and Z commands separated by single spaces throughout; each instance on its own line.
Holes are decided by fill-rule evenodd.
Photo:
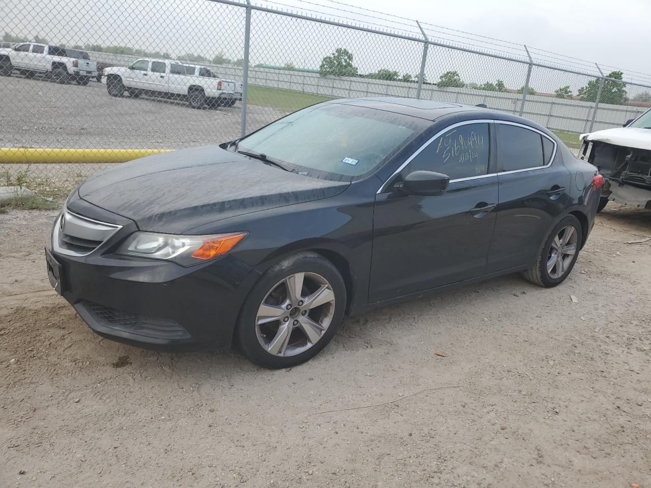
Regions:
M 299 284 L 301 291 L 291 293 Z M 235 342 L 263 368 L 296 366 L 327 346 L 345 310 L 346 285 L 335 265 L 316 252 L 298 252 L 273 265 L 253 286 L 240 310 Z

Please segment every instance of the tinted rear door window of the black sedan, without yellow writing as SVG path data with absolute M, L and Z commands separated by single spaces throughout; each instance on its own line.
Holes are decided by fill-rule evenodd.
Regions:
M 496 124 L 497 164 L 501 171 L 537 168 L 546 165 L 539 133 L 519 126 Z M 551 156 L 551 152 L 549 153 Z

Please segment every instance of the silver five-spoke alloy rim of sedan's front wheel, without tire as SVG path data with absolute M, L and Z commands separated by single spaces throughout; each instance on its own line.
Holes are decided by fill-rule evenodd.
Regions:
M 294 273 L 277 282 L 258 307 L 258 342 L 274 356 L 295 356 L 314 346 L 335 313 L 335 293 L 316 273 Z

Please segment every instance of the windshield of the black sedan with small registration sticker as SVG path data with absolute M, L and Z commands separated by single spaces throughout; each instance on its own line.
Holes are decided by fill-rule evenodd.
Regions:
M 322 103 L 245 137 L 237 149 L 264 154 L 298 172 L 336 181 L 367 176 L 429 122 L 344 103 Z

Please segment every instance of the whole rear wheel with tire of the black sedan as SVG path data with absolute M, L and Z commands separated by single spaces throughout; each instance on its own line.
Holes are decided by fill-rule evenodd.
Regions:
M 570 234 L 567 235 L 566 232 Z M 551 230 L 542 249 L 538 252 L 536 264 L 524 271 L 523 277 L 545 288 L 561 284 L 572 272 L 581 249 L 581 239 L 579 220 L 574 215 L 564 217 Z M 558 256 L 561 258 L 559 259 Z

